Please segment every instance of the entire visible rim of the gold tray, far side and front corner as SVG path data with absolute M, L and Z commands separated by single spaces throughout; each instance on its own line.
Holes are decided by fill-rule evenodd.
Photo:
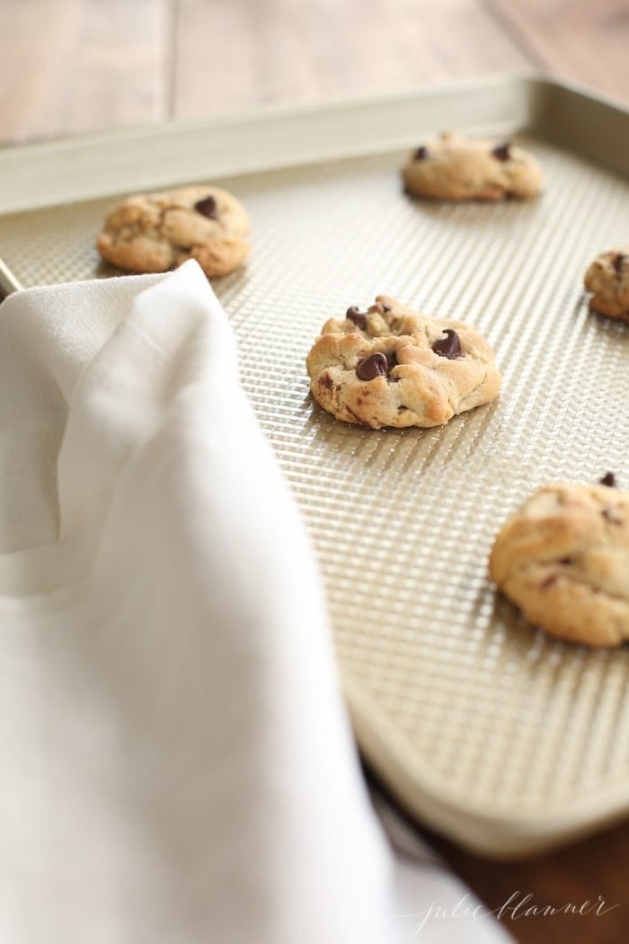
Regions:
M 137 157 L 134 158 L 134 154 L 137 154 L 135 149 L 140 148 L 143 155 L 154 147 L 157 140 L 164 138 L 177 144 L 175 151 L 178 161 L 181 160 L 180 151 L 185 151 L 190 143 L 203 142 L 207 145 L 203 178 L 245 176 L 392 152 L 413 146 L 418 133 L 434 131 L 435 110 L 447 109 L 448 103 L 455 102 L 460 96 L 464 96 L 466 101 L 472 96 L 473 101 L 482 102 L 483 93 L 490 98 L 491 108 L 487 108 L 486 102 L 477 110 L 468 109 L 468 120 L 457 125 L 462 130 L 489 134 L 543 128 L 549 112 L 555 114 L 562 98 L 565 101 L 568 96 L 572 104 L 576 102 L 611 112 L 614 118 L 626 125 L 629 142 L 629 108 L 620 102 L 555 77 L 530 74 L 485 76 L 378 96 L 344 97 L 336 101 L 301 105 L 273 105 L 210 119 L 174 120 L 0 147 L 0 215 L 19 214 L 44 207 L 64 207 L 73 202 L 149 189 L 153 184 L 136 186 L 130 183 L 130 179 L 135 181 L 140 177 L 146 180 L 145 165 Z M 499 121 L 490 121 L 488 112 L 495 108 L 496 103 L 502 109 L 501 118 Z M 431 110 L 426 110 L 427 105 L 431 106 Z M 394 112 L 397 121 L 400 114 L 407 110 L 417 110 L 423 115 L 412 123 L 410 131 L 407 118 L 406 129 L 395 122 L 393 126 L 387 124 L 381 129 L 373 120 L 374 116 Z M 356 123 L 348 121 L 352 115 L 359 116 L 357 127 L 362 132 L 356 139 L 352 139 Z M 287 135 L 296 137 L 295 122 L 302 128 L 308 126 L 308 133 L 298 142 L 296 150 L 293 148 L 290 153 L 284 153 L 281 145 L 287 142 Z M 342 126 L 344 133 L 340 141 L 322 145 L 318 136 L 323 128 L 330 125 Z M 261 142 L 268 138 L 270 128 L 278 132 L 272 147 L 263 153 L 250 148 L 247 154 L 241 155 L 240 162 L 236 160 L 229 164 L 229 146 L 243 139 L 249 143 Z M 540 133 L 543 134 L 543 130 Z M 217 137 L 222 139 L 222 143 L 214 147 Z M 104 157 L 109 156 L 112 149 L 122 160 L 113 161 L 113 173 L 104 180 L 96 180 L 94 191 L 94 175 L 98 175 Z M 168 155 L 165 155 L 161 163 L 158 162 L 159 166 L 167 159 Z M 50 161 L 68 161 L 67 172 L 58 189 L 51 186 L 49 172 L 41 178 L 42 162 L 47 166 Z M 629 174 L 629 154 L 625 161 L 623 169 Z M 184 166 L 188 173 L 190 164 L 177 162 L 171 177 L 164 178 L 163 183 L 156 183 L 155 186 L 167 186 L 189 179 L 181 176 Z M 39 177 L 36 177 L 38 173 Z M 133 177 L 134 174 L 136 177 Z M 10 194 L 5 194 L 2 182 L 10 183 L 11 175 L 14 186 L 9 187 Z M 196 173 L 191 176 L 200 177 Z M 463 809 L 454 796 L 449 796 L 443 783 L 432 784 L 430 770 L 422 766 L 421 759 L 413 758 L 410 764 L 404 762 L 404 743 L 396 750 L 390 730 L 384 737 L 384 726 L 374 723 L 373 712 L 369 715 L 369 721 L 366 720 L 364 705 L 369 699 L 364 695 L 363 686 L 343 672 L 342 666 L 340 676 L 356 739 L 376 775 L 415 818 L 450 835 L 473 851 L 505 858 L 529 855 L 555 848 L 560 842 L 587 834 L 629 812 L 629 784 L 624 788 L 617 785 L 611 789 L 594 789 L 588 792 L 586 798 L 573 801 L 569 806 L 563 802 L 558 811 L 555 806 L 550 807 L 548 804 L 544 810 L 528 807 L 518 820 L 500 812 L 489 815 L 486 807 L 473 801 L 469 801 Z

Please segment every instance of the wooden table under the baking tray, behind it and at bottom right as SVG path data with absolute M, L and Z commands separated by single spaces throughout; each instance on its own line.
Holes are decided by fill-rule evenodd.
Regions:
M 629 101 L 629 0 L 2 0 L 1 12 L 5 143 L 489 72 L 557 74 Z M 512 863 L 426 835 L 491 909 L 526 895 L 574 906 L 504 911 L 516 940 L 629 940 L 629 824 Z

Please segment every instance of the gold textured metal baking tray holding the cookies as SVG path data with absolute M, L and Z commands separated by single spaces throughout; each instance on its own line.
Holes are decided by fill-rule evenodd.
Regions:
M 543 195 L 409 200 L 406 148 L 448 127 L 515 134 Z M 93 242 L 115 194 L 212 179 L 245 203 L 251 261 L 215 288 L 314 538 L 359 743 L 410 812 L 492 854 L 629 810 L 629 652 L 552 641 L 487 574 L 539 484 L 611 469 L 629 486 L 629 333 L 582 290 L 588 261 L 629 238 L 628 177 L 625 110 L 517 77 L 0 151 L 0 254 L 26 285 L 111 274 Z M 379 293 L 482 329 L 499 400 L 434 430 L 317 408 L 309 346 Z

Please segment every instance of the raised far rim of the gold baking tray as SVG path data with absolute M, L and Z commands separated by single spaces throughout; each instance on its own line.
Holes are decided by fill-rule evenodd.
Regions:
M 444 124 L 470 134 L 514 132 L 543 125 L 549 117 L 550 132 L 561 99 L 567 98 L 623 116 L 629 150 L 629 107 L 554 76 L 506 73 L 9 144 L 0 147 L 0 215 L 186 180 L 238 177 L 411 148 L 423 132 L 443 127 L 441 110 L 449 112 Z M 599 147 L 598 152 L 603 159 L 604 150 Z M 619 160 L 629 173 L 629 158 L 609 154 L 610 166 Z M 47 169 L 43 175 L 42 166 Z

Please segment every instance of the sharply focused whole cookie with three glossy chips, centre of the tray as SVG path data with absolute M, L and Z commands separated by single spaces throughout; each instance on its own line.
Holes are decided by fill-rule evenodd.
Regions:
M 344 423 L 432 427 L 488 403 L 501 375 L 487 340 L 460 321 L 378 295 L 323 325 L 306 358 L 315 400 Z

